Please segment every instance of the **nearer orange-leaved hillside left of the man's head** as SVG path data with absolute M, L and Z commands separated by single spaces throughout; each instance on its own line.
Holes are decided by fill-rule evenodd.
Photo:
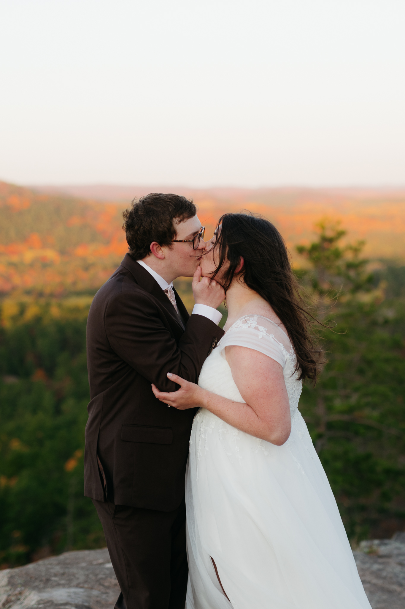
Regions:
M 0 292 L 94 293 L 123 258 L 121 206 L 0 183 Z

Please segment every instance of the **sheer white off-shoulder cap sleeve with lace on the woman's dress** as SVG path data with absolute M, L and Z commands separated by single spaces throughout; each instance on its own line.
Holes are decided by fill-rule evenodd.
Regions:
M 245 315 L 228 329 L 217 347 L 222 357 L 225 358 L 225 347 L 231 345 L 260 351 L 283 369 L 294 353 L 287 334 L 275 322 L 261 315 Z

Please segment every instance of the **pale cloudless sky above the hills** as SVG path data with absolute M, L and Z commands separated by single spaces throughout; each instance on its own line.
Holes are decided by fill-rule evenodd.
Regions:
M 0 179 L 405 185 L 405 1 L 0 0 Z

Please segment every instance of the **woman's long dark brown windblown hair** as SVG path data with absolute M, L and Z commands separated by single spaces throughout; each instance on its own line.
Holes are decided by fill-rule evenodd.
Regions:
M 311 337 L 311 320 L 291 270 L 287 247 L 277 228 L 269 220 L 250 213 L 223 214 L 216 230 L 216 253 L 219 262 L 214 279 L 223 268 L 220 283 L 225 292 L 239 276 L 251 290 L 270 304 L 287 330 L 293 345 L 299 379 L 316 382 L 321 348 Z M 242 269 L 236 273 L 240 258 Z

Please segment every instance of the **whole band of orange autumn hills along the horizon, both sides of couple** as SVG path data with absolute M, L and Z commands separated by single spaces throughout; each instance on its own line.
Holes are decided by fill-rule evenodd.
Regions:
M 0 293 L 94 293 L 127 250 L 121 213 L 148 192 L 192 197 L 208 236 L 227 211 L 268 217 L 293 246 L 322 217 L 341 220 L 372 259 L 405 260 L 405 189 L 191 189 L 165 186 L 36 186 L 0 182 Z

